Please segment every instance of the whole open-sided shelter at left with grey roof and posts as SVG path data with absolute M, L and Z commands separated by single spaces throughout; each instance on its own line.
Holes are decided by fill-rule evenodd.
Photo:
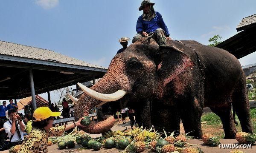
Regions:
M 104 76 L 107 68 L 12 42 L 0 41 L 0 99 L 22 99 Z

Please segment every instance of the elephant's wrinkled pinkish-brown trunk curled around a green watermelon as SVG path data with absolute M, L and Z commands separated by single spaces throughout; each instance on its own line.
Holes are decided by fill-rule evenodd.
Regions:
M 105 103 L 105 102 L 102 102 L 102 100 L 104 100 L 104 97 L 101 100 L 98 100 L 99 96 L 91 95 L 93 92 L 96 91 L 96 92 L 98 92 L 98 94 L 102 93 L 103 96 L 104 96 L 104 94 L 109 94 L 113 100 L 113 99 L 115 99 L 115 98 L 113 98 L 113 95 L 114 96 L 117 95 L 117 96 L 119 96 L 119 98 L 121 98 L 122 95 L 120 96 L 120 92 L 121 92 L 121 94 L 125 94 L 125 91 L 129 90 L 129 89 L 123 87 L 123 86 L 126 86 L 126 87 L 128 86 L 128 79 L 126 77 L 123 77 L 123 78 L 118 77 L 120 75 L 120 73 L 122 73 L 122 63 L 119 63 L 119 66 L 120 67 L 118 67 L 118 68 L 111 69 L 111 65 L 110 65 L 108 72 L 105 74 L 105 76 L 98 83 L 96 83 L 95 85 L 93 85 L 90 88 L 91 90 L 93 90 L 90 93 L 87 93 L 87 91 L 86 91 L 87 89 L 86 90 L 83 89 L 83 91 L 85 93 L 79 98 L 79 100 L 77 101 L 75 108 L 74 108 L 74 116 L 75 116 L 76 120 L 79 120 L 83 116 L 88 116 L 90 113 L 90 110 L 93 107 L 95 107 L 97 105 L 102 105 L 102 103 Z M 122 82 L 122 83 L 120 83 L 120 82 Z M 125 85 L 124 85 L 124 82 L 125 82 Z M 119 89 L 122 89 L 125 91 L 119 91 Z M 116 91 L 119 91 L 119 92 L 116 92 Z M 97 94 L 96 92 L 94 94 Z M 114 94 L 112 94 L 112 93 L 114 93 Z M 92 98 L 92 97 L 94 97 L 94 98 Z M 97 99 L 95 99 L 96 97 L 97 97 Z M 91 133 L 91 134 L 104 133 L 104 132 L 108 131 L 109 129 L 111 129 L 111 127 L 113 127 L 113 125 L 115 123 L 114 121 L 115 120 L 114 120 L 113 116 L 105 116 L 103 121 L 101 121 L 101 122 L 91 121 L 90 125 L 88 125 L 86 127 L 82 127 L 82 130 L 84 130 L 87 133 Z

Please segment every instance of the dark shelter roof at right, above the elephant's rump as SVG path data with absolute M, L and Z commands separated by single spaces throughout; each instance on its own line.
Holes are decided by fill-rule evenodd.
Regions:
M 256 51 L 256 14 L 243 18 L 236 31 L 241 32 L 216 47 L 229 51 L 238 59 Z

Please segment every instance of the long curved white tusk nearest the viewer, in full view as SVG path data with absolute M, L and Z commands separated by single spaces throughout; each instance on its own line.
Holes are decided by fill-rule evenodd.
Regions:
M 91 90 L 90 88 L 87 88 L 86 86 L 84 86 L 81 83 L 77 83 L 79 85 L 79 87 L 89 96 L 104 101 L 104 102 L 113 102 L 116 101 L 118 99 L 121 99 L 123 96 L 125 96 L 126 91 L 123 90 L 118 90 L 113 94 L 102 94 L 96 91 Z

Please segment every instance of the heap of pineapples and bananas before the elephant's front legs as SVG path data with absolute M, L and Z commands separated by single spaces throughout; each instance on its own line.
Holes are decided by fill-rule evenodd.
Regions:
M 189 133 L 175 136 L 175 133 L 172 132 L 168 136 L 165 131 L 163 133 L 158 133 L 152 126 L 150 129 L 140 127 L 128 132 L 113 132 L 110 130 L 104 133 L 103 136 L 106 138 L 105 141 L 113 139 L 116 148 L 122 146 L 122 144 L 119 144 L 122 143 L 120 142 L 121 139 L 127 139 L 130 143 L 125 148 L 121 147 L 121 149 L 124 149 L 123 153 L 140 153 L 145 149 L 151 149 L 156 153 L 203 153 L 199 147 L 189 147 L 194 144 L 189 144 L 187 142 L 188 139 L 193 139 L 193 137 L 188 136 L 188 134 Z M 161 136 L 165 138 L 163 139 Z

